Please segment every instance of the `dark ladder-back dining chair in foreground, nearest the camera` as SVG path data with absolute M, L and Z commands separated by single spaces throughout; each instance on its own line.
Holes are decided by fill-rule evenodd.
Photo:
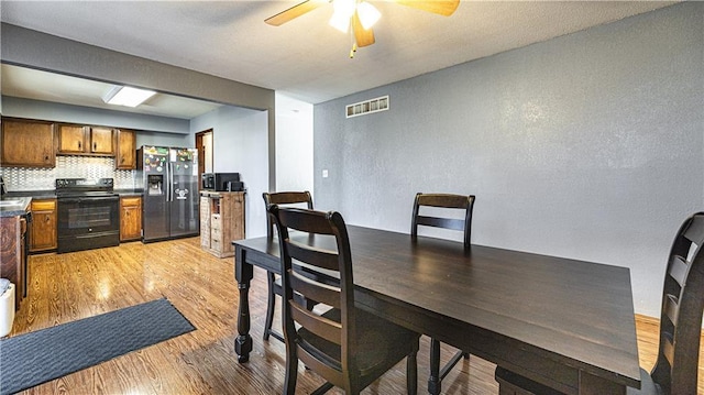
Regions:
M 403 359 L 408 394 L 416 394 L 420 334 L 355 307 L 352 255 L 342 216 L 276 205 L 267 211 L 278 229 L 282 257 L 284 394 L 296 392 L 299 360 L 327 381 L 314 394 L 333 386 L 359 394 Z M 292 239 L 289 229 L 302 232 L 301 239 Z M 310 246 L 308 240 L 317 245 Z M 297 301 L 296 293 L 321 305 L 311 311 Z M 318 311 L 323 305 L 329 309 Z

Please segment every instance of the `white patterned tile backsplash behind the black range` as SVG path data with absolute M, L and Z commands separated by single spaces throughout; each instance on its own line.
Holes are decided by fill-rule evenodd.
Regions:
M 116 189 L 141 187 L 136 171 L 116 171 L 113 157 L 62 155 L 54 168 L 2 167 L 0 174 L 9 191 L 54 189 L 56 178 L 114 178 Z

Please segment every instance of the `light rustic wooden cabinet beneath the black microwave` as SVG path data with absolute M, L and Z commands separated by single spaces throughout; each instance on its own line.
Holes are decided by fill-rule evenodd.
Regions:
M 244 239 L 244 194 L 200 193 L 200 246 L 218 257 L 234 256 L 232 241 Z

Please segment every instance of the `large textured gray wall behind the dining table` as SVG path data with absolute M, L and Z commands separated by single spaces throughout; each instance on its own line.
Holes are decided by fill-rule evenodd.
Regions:
M 473 194 L 473 243 L 630 267 L 657 316 L 672 237 L 703 209 L 703 21 L 678 4 L 317 105 L 316 206 L 408 232 L 417 191 Z

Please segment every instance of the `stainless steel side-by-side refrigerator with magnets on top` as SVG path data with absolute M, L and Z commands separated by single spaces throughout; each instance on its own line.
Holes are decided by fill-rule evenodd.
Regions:
M 198 152 L 194 149 L 142 146 L 142 241 L 197 235 L 199 224 Z

